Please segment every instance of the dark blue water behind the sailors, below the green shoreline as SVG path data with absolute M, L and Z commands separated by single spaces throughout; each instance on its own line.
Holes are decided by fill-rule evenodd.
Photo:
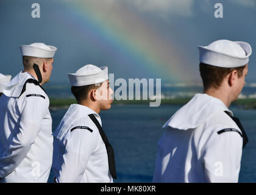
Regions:
M 102 126 L 115 151 L 118 179 L 114 182 L 152 182 L 160 127 L 182 105 L 112 105 L 100 113 Z M 256 110 L 230 107 L 240 118 L 249 143 L 243 149 L 239 182 L 256 182 Z M 66 109 L 51 112 L 54 131 Z M 53 181 L 52 172 L 48 182 Z

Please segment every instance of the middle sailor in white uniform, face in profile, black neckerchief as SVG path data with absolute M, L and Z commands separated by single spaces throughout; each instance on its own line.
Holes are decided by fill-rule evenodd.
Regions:
M 85 65 L 68 77 L 77 104 L 69 106 L 53 133 L 54 182 L 112 183 L 115 158 L 99 116 L 113 102 L 108 68 Z

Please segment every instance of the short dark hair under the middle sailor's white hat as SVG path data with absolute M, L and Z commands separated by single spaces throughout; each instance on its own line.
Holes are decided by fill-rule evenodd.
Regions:
M 98 89 L 99 87 L 101 87 L 102 83 L 100 85 L 84 85 L 84 86 L 79 86 L 79 87 L 75 87 L 72 86 L 71 87 L 71 93 L 73 93 L 73 95 L 76 98 L 76 101 L 79 102 L 82 99 L 87 99 L 88 93 L 90 90 L 92 89 Z

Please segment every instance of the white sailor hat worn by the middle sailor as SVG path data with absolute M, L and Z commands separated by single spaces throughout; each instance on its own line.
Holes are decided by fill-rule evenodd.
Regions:
M 68 73 L 71 86 L 79 87 L 84 85 L 92 85 L 102 83 L 108 80 L 107 66 L 85 65 L 79 68 L 76 73 Z

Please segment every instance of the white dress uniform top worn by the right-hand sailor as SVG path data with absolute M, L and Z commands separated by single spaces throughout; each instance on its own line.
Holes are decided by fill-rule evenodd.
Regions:
M 207 94 L 180 108 L 163 126 L 153 182 L 238 182 L 242 132 L 225 111 Z

